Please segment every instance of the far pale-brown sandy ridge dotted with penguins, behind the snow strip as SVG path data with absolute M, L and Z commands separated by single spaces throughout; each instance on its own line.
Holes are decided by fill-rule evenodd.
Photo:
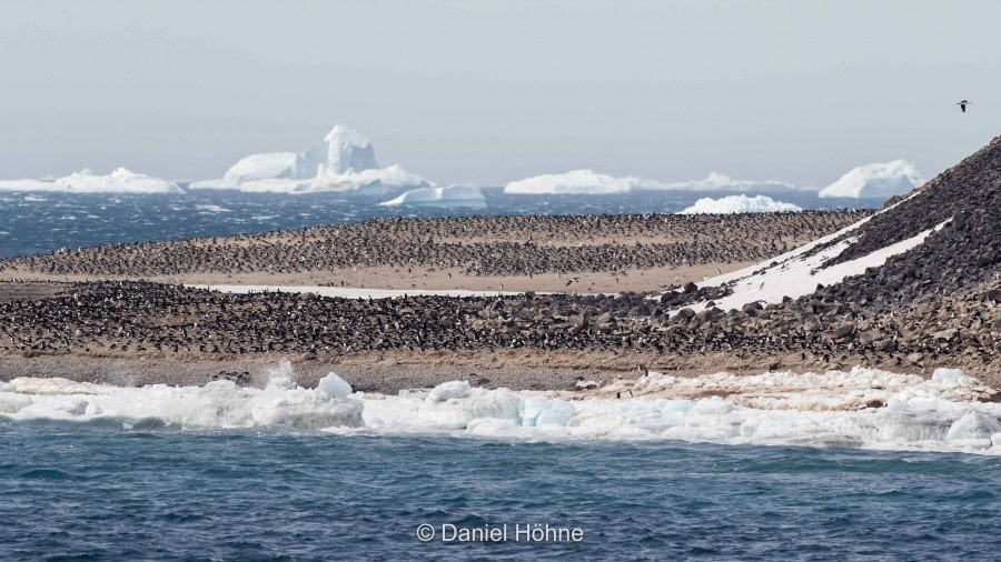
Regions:
M 0 279 L 655 291 L 777 255 L 869 211 L 379 219 L 0 261 Z

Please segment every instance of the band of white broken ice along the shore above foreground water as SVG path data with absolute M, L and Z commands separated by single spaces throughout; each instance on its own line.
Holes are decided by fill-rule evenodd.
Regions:
M 286 363 L 261 381 L 262 389 L 229 381 L 121 388 L 14 379 L 0 383 L 0 419 L 125 429 L 287 426 L 514 441 L 682 440 L 1001 454 L 1001 404 L 983 401 L 994 391 L 950 369 L 936 370 L 931 380 L 861 368 L 755 377 L 651 373 L 597 391 L 544 393 L 453 381 L 398 395 L 350 393 L 333 373 L 317 389 L 304 389 L 289 375 Z

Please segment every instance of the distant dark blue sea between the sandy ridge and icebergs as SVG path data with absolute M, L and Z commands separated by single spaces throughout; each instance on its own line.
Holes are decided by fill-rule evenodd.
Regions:
M 386 197 L 199 191 L 185 194 L 0 193 L 0 259 L 109 243 L 180 240 L 377 217 L 470 214 L 673 213 L 703 197 L 732 192 L 641 191 L 616 195 L 507 195 L 484 189 L 486 209 L 380 207 Z M 767 193 L 766 193 L 767 194 Z M 879 208 L 882 200 L 820 199 L 815 193 L 771 194 L 804 209 Z

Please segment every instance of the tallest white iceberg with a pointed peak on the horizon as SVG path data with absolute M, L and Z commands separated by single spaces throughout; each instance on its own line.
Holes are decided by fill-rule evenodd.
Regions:
M 251 154 L 234 164 L 221 180 L 192 183 L 191 189 L 238 189 L 250 192 L 374 192 L 430 187 L 399 165 L 379 168 L 371 141 L 336 124 L 324 140 L 303 152 Z

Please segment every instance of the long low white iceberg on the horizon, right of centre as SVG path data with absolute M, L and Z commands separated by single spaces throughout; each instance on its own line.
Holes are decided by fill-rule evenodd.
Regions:
M 782 181 L 736 180 L 712 172 L 702 180 L 666 183 L 657 180 L 626 175 L 614 178 L 594 170 L 573 170 L 566 173 L 546 173 L 513 181 L 504 187 L 509 194 L 611 194 L 642 190 L 670 191 L 743 191 L 773 192 L 799 191 L 800 188 Z

